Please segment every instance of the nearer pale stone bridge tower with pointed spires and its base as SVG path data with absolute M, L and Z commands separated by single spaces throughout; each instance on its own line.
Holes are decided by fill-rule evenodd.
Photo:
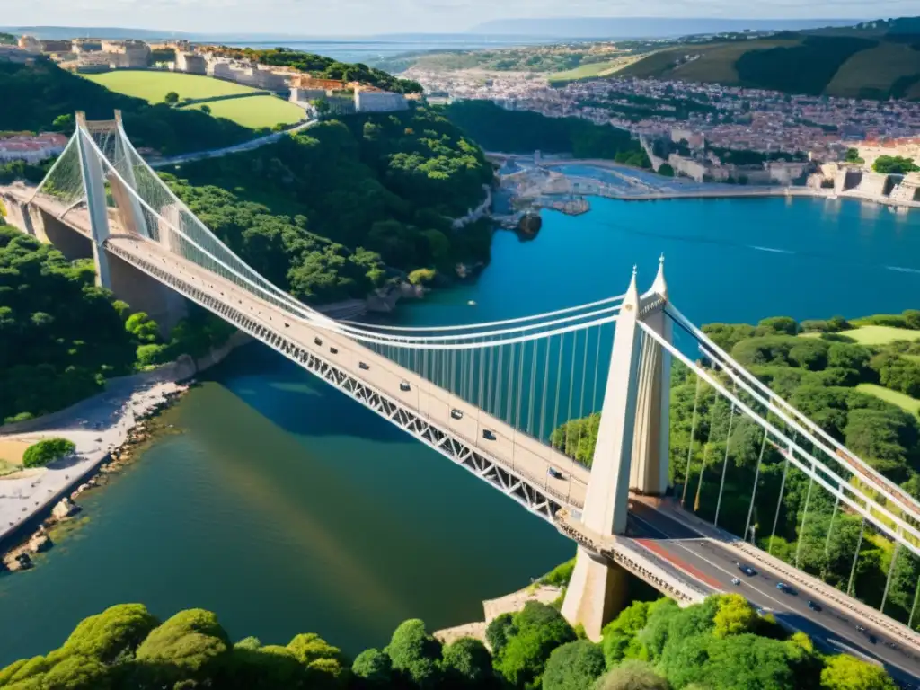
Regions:
M 581 513 L 585 528 L 602 537 L 626 532 L 630 490 L 663 496 L 668 486 L 671 354 L 639 328 L 643 323 L 670 342 L 671 324 L 663 310 L 667 300 L 663 256 L 647 293 L 638 293 L 633 270 L 616 320 L 604 407 Z M 601 628 L 625 602 L 626 587 L 625 570 L 580 546 L 562 614 L 572 625 L 584 626 L 589 638 L 599 639 Z

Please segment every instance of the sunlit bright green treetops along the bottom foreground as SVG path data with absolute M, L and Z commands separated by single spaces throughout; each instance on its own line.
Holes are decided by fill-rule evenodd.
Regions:
M 670 599 L 630 605 L 581 638 L 555 606 L 530 602 L 475 638 L 442 644 L 419 619 L 383 650 L 353 661 L 316 634 L 286 645 L 234 643 L 217 616 L 181 611 L 160 622 L 142 604 L 82 621 L 46 656 L 0 670 L 9 690 L 895 690 L 878 666 L 823 656 L 804 633 L 788 636 L 740 594 L 679 608 Z

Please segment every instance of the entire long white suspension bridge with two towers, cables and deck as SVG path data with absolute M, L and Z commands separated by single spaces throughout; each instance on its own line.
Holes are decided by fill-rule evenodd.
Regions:
M 181 298 L 203 306 L 552 523 L 578 545 L 563 614 L 591 638 L 624 604 L 629 573 L 684 605 L 741 592 L 824 647 L 920 678 L 920 588 L 908 620 L 884 613 L 895 563 L 920 558 L 920 503 L 687 319 L 670 297 L 663 258 L 644 292 L 634 270 L 625 293 L 534 316 L 431 328 L 335 320 L 214 236 L 144 162 L 118 113 L 104 122 L 78 114 L 40 185 L 0 188 L 0 199 L 11 224 L 65 254 L 91 256 L 99 284 L 133 308 L 175 319 Z M 691 442 L 679 456 L 670 438 L 676 373 L 696 379 Z M 708 464 L 694 452 L 706 425 L 697 413 L 703 395 L 730 410 L 724 458 Z M 756 432 L 760 452 L 746 524 L 730 535 L 723 494 L 732 428 L 742 425 Z M 758 488 L 771 454 L 782 482 L 778 503 L 765 506 Z M 720 477 L 711 520 L 697 510 L 707 467 Z M 696 500 L 688 496 L 695 472 Z M 772 538 L 766 551 L 753 543 L 758 525 L 764 535 L 772 522 L 776 533 L 790 473 L 807 478 L 802 531 L 819 495 L 834 505 L 828 544 L 835 519 L 861 523 L 846 587 L 798 569 L 798 551 L 794 564 L 772 556 Z M 880 610 L 851 596 L 864 535 L 894 549 Z M 777 590 L 781 582 L 787 589 Z

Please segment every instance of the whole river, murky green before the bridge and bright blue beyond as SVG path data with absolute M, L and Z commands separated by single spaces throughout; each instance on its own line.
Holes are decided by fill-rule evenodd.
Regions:
M 862 316 L 920 305 L 920 214 L 856 201 L 610 201 L 501 232 L 476 282 L 400 308 L 407 324 L 522 316 L 639 288 L 666 256 L 696 321 Z M 476 306 L 467 305 L 472 300 Z M 110 604 L 201 606 L 233 638 L 317 632 L 354 654 L 401 620 L 446 627 L 573 553 L 523 511 L 291 362 L 248 346 L 165 421 L 87 522 L 0 576 L 0 665 L 55 647 Z

